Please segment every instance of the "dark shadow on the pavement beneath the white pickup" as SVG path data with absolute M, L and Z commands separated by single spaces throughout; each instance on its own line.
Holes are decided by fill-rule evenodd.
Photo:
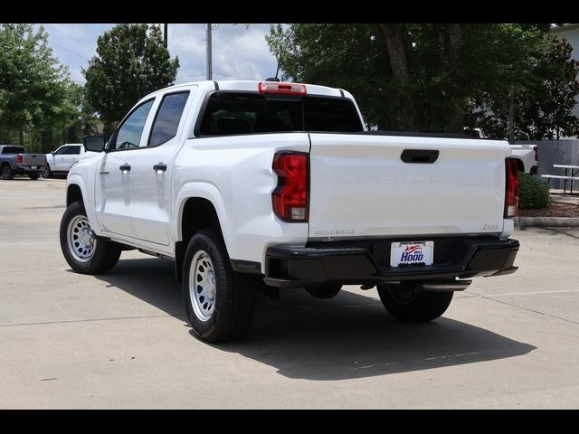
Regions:
M 99 278 L 185 321 L 172 262 L 121 260 Z M 279 300 L 260 294 L 248 334 L 239 342 L 211 346 L 268 364 L 289 378 L 318 381 L 487 362 L 536 349 L 448 317 L 400 323 L 376 298 L 375 289 L 364 295 L 343 290 L 329 300 L 310 297 L 305 290 L 282 292 Z

